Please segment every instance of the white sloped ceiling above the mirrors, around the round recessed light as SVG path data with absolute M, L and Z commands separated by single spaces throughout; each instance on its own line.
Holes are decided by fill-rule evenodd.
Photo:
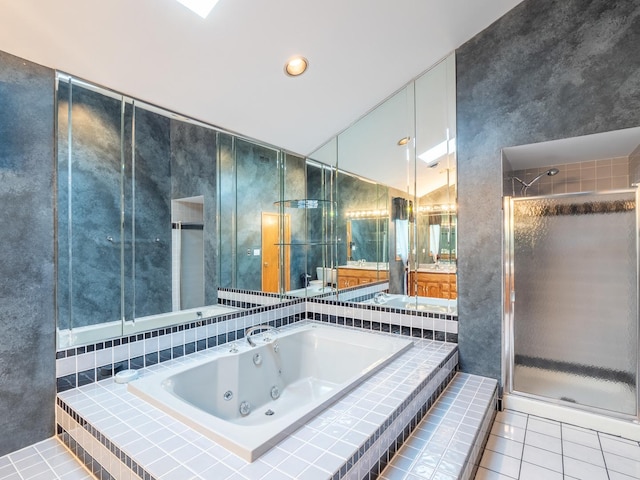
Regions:
M 520 1 L 0 0 L 0 50 L 306 155 Z

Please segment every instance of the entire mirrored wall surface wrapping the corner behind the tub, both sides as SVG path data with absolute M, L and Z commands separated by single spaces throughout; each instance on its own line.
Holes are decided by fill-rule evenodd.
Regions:
M 229 289 L 387 281 L 454 312 L 453 57 L 307 158 L 65 74 L 57 105 L 59 348 L 233 311 Z

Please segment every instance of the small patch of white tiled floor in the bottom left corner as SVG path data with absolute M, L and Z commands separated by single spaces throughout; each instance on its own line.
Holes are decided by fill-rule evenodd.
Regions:
M 0 457 L 0 480 L 95 480 L 56 437 Z

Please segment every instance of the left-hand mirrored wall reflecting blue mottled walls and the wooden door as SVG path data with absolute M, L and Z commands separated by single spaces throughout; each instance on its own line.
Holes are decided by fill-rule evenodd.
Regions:
M 335 203 L 334 167 L 64 74 L 57 106 L 59 348 L 235 310 L 220 288 L 305 295 L 335 264 L 335 212 L 281 210 Z

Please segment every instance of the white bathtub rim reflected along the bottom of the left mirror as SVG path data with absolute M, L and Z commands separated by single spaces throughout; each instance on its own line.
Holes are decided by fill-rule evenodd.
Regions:
M 160 313 L 158 315 L 140 317 L 137 318 L 135 322 L 132 320 L 126 320 L 123 323 L 120 320 L 116 320 L 113 322 L 58 330 L 57 348 L 60 350 L 75 345 L 86 345 L 89 343 L 101 342 L 114 337 L 133 335 L 147 330 L 164 328 L 169 325 L 179 325 L 189 321 L 193 322 L 200 318 L 215 317 L 216 315 L 224 315 L 225 313 L 236 311 L 238 311 L 238 309 L 233 307 L 211 305 L 207 307 L 181 310 L 179 312 Z M 201 317 L 198 316 L 198 312 L 202 313 Z

